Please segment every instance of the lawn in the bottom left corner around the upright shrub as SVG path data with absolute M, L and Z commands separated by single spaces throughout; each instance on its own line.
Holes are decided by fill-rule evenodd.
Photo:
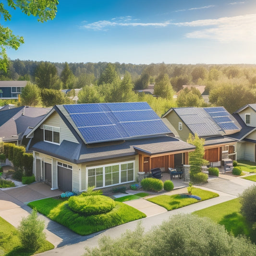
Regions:
M 41 244 L 36 252 L 31 252 L 27 248 L 23 248 L 20 242 L 18 231 L 6 220 L 0 218 L 0 255 L 5 256 L 29 256 L 42 253 L 54 248 L 54 245 L 48 241 Z M 3 254 L 1 254 L 1 249 Z

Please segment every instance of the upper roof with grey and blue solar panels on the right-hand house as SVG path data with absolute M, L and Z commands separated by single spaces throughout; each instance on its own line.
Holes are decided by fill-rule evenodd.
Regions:
M 171 108 L 162 118 L 174 111 L 192 134 L 200 137 L 231 134 L 240 131 L 241 126 L 223 107 L 213 108 Z

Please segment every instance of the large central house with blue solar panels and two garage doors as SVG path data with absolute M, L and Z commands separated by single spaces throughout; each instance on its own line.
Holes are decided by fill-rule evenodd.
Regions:
M 33 173 L 51 189 L 85 191 L 188 163 L 195 146 L 173 136 L 146 102 L 56 105 L 30 131 Z

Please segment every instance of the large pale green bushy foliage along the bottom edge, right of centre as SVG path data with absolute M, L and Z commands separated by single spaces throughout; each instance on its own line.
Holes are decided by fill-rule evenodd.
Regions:
M 103 236 L 99 247 L 85 250 L 84 256 L 254 256 L 256 245 L 210 219 L 187 214 L 174 215 L 146 233 L 139 224 L 116 239 Z

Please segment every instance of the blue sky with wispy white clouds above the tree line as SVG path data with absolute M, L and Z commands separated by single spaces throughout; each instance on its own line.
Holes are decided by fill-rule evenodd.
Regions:
M 11 60 L 256 63 L 256 0 L 59 2 L 47 23 L 12 11 L 4 25 L 25 43 Z

